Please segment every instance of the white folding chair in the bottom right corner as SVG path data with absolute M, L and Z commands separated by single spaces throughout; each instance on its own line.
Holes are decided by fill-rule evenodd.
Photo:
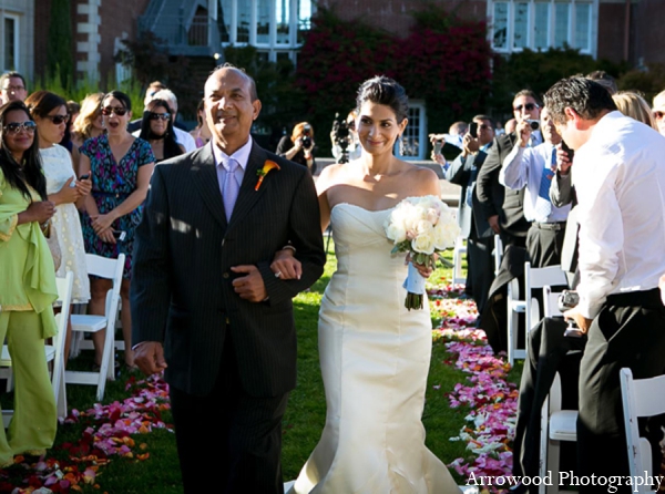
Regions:
M 665 375 L 651 379 L 633 379 L 628 368 L 620 371 L 621 395 L 623 400 L 624 424 L 626 428 L 626 443 L 628 464 L 633 477 L 653 475 L 651 443 L 640 436 L 637 419 L 654 416 L 665 413 Z M 633 486 L 633 491 L 641 494 L 653 493 L 651 486 Z

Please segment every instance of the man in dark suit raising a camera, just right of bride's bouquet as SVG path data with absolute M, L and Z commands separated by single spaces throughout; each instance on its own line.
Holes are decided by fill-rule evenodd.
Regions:
M 462 153 L 443 172 L 443 177 L 451 184 L 462 186 L 458 224 L 460 235 L 467 237 L 466 291 L 473 297 L 478 312 L 482 313 L 494 279 L 494 236 L 475 196 L 475 179 L 492 146 L 494 126 L 487 115 L 475 115 L 473 123 L 478 125 L 477 137 L 472 137 L 470 133 L 464 135 Z

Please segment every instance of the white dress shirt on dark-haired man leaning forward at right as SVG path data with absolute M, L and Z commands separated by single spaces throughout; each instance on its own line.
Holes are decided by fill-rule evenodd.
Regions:
M 665 274 L 665 137 L 614 111 L 575 153 L 580 313 L 607 295 L 649 290 Z

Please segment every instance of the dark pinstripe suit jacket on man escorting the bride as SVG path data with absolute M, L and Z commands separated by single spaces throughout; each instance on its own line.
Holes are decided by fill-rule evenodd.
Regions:
M 255 191 L 257 171 L 279 164 Z M 269 269 L 287 241 L 303 263 L 299 280 Z M 163 342 L 165 377 L 191 394 L 209 394 L 229 331 L 242 384 L 274 397 L 296 384 L 291 298 L 323 274 L 325 253 L 314 182 L 306 167 L 252 147 L 231 220 L 226 222 L 212 145 L 163 162 L 151 179 L 136 228 L 131 291 L 133 344 Z M 231 267 L 255 265 L 269 299 L 235 294 Z

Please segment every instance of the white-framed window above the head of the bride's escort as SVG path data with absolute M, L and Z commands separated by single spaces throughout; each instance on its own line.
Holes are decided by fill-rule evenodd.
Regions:
M 309 30 L 311 0 L 218 0 L 222 44 L 253 45 L 268 60 L 288 56 L 295 62 Z

